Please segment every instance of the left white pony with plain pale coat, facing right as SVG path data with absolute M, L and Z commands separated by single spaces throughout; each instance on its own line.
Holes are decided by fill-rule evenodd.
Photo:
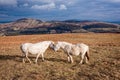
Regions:
M 30 59 L 28 58 L 28 53 L 31 54 L 37 54 L 35 63 L 37 63 L 38 57 L 41 55 L 42 56 L 42 60 L 44 61 L 44 53 L 47 50 L 47 48 L 50 46 L 52 47 L 54 44 L 53 41 L 43 41 L 43 42 L 39 42 L 39 43 L 24 43 L 21 45 L 21 50 L 23 52 L 23 63 L 25 63 L 24 61 L 24 57 L 27 58 L 27 60 L 31 63 Z

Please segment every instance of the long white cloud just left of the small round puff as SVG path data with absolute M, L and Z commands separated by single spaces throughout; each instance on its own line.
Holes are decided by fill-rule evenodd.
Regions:
M 50 10 L 50 9 L 54 9 L 55 3 L 49 3 L 49 4 L 45 4 L 45 5 L 33 5 L 31 8 L 32 9 L 41 9 L 41 10 Z

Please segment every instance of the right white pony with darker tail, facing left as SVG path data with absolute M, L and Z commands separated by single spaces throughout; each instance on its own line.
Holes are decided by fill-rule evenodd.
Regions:
M 89 60 L 89 47 L 83 43 L 81 44 L 76 44 L 73 45 L 71 43 L 68 42 L 61 42 L 58 41 L 56 45 L 54 45 L 53 49 L 55 51 L 59 50 L 59 49 L 63 49 L 64 52 L 67 54 L 68 56 L 68 62 L 73 63 L 73 58 L 72 55 L 80 55 L 81 54 L 81 61 L 80 64 L 83 63 L 84 57 L 86 57 L 86 63 L 88 63 Z

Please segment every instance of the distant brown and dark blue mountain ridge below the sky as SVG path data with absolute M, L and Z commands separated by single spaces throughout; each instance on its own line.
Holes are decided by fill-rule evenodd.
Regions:
M 120 25 L 98 21 L 42 21 L 22 18 L 0 24 L 0 35 L 53 34 L 53 33 L 120 33 Z

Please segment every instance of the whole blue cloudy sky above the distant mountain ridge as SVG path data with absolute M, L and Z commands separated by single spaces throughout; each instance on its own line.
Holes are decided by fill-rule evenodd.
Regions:
M 0 21 L 20 18 L 119 21 L 120 0 L 0 0 Z

